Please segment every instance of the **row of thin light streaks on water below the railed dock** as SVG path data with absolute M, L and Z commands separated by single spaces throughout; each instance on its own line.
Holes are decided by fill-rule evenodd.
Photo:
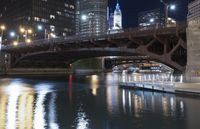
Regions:
M 120 103 L 125 114 L 142 117 L 144 111 L 160 110 L 166 117 L 174 117 L 177 113 L 184 116 L 184 103 L 177 101 L 174 95 L 126 89 L 122 89 L 121 92 Z

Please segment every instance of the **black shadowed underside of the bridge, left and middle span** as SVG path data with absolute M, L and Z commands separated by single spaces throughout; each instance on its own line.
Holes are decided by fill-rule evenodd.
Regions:
M 35 53 L 17 62 L 13 67 L 23 68 L 66 68 L 68 64 L 80 59 L 92 58 L 92 57 L 105 57 L 105 56 L 137 56 L 132 49 L 122 51 L 119 49 L 101 49 L 94 48 L 88 51 L 88 49 L 81 49 L 79 51 L 62 51 L 62 52 L 45 52 Z

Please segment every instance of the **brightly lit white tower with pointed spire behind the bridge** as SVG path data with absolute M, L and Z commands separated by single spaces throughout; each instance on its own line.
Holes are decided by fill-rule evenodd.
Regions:
M 117 1 L 117 5 L 114 11 L 114 23 L 113 29 L 118 30 L 122 29 L 122 12 L 119 6 L 119 2 Z

